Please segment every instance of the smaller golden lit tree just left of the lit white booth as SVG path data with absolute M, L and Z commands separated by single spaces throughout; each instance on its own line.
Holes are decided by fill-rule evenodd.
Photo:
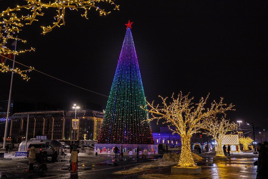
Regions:
M 208 120 L 203 120 L 202 129 L 205 129 L 205 134 L 212 136 L 218 144 L 216 157 L 224 157 L 224 152 L 222 149 L 222 138 L 227 133 L 235 133 L 238 125 L 234 122 L 226 120 L 224 117 L 221 119 L 212 118 Z

